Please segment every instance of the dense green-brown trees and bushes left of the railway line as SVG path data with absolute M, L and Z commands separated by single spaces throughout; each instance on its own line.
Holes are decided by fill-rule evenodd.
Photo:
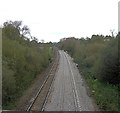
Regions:
M 21 21 L 3 24 L 2 46 L 3 109 L 13 109 L 15 102 L 49 65 L 54 55 L 51 43 L 38 43 Z

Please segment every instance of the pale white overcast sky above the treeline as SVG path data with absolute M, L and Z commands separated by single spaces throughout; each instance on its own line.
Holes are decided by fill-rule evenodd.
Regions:
M 39 41 L 118 32 L 119 0 L 1 0 L 0 25 L 20 20 Z

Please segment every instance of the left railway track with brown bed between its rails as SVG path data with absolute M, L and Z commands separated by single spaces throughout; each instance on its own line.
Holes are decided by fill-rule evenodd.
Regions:
M 32 99 L 30 105 L 27 107 L 26 111 L 44 111 L 44 107 L 47 103 L 47 99 L 51 92 L 58 62 L 59 62 L 59 53 L 56 50 L 56 58 L 54 60 L 54 63 L 52 64 L 52 67 L 48 72 L 44 82 L 42 83 L 35 97 Z

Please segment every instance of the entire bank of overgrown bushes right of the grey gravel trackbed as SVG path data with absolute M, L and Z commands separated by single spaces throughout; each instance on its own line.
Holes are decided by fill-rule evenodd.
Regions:
M 118 38 L 120 35 L 93 35 L 86 39 L 64 38 L 58 43 L 78 63 L 101 110 L 120 111 Z

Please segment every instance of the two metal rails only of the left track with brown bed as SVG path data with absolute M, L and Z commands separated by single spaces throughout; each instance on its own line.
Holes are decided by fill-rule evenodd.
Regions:
M 44 111 L 44 108 L 45 108 L 45 105 L 46 105 L 46 103 L 47 103 L 49 94 L 50 94 L 50 92 L 51 92 L 51 88 L 52 88 L 53 81 L 54 81 L 54 77 L 55 77 L 55 72 L 56 72 L 56 70 L 57 70 L 57 65 L 58 65 L 58 61 L 59 61 L 59 53 L 58 53 L 58 51 L 57 51 L 56 54 L 57 54 L 57 55 L 56 55 L 55 61 L 54 61 L 53 65 L 52 65 L 52 67 L 51 67 L 48 75 L 46 76 L 43 84 L 41 85 L 40 89 L 38 90 L 37 94 L 35 95 L 34 100 L 30 103 L 30 105 L 28 106 L 28 108 L 27 108 L 26 111 L 31 111 L 31 109 L 32 109 L 34 103 L 36 102 L 38 96 L 40 95 L 41 91 L 44 90 L 44 86 L 45 86 L 45 84 L 47 83 L 49 76 L 53 75 L 53 78 L 52 78 L 50 87 L 49 87 L 49 89 L 48 89 L 48 91 L 47 91 L 47 94 L 45 95 L 45 100 L 43 101 L 42 106 L 41 106 L 41 111 Z

